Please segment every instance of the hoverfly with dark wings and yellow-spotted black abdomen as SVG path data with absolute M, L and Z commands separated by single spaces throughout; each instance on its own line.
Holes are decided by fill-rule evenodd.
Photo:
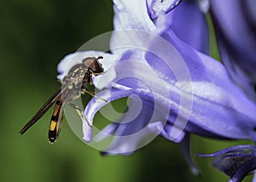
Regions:
M 100 59 L 103 59 L 103 57 L 88 57 L 82 60 L 81 63 L 73 65 L 73 67 L 68 71 L 67 76 L 63 77 L 61 81 L 62 87 L 59 88 L 38 110 L 35 116 L 26 123 L 26 125 L 20 130 L 20 134 L 24 134 L 28 128 L 31 128 L 34 123 L 44 116 L 46 111 L 48 111 L 54 103 L 55 108 L 49 122 L 48 139 L 50 143 L 55 142 L 61 132 L 64 105 L 72 106 L 79 113 L 79 117 L 83 118 L 83 111 L 79 106 L 74 105 L 72 101 L 77 100 L 81 94 L 84 93 L 95 96 L 87 89 L 87 87 L 92 84 L 93 75 L 100 75 L 104 71 L 102 64 L 98 61 Z

